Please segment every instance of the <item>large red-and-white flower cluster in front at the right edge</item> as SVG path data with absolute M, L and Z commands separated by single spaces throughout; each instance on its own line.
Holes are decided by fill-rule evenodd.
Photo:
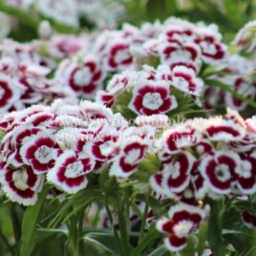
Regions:
M 153 188 L 185 203 L 255 193 L 255 121 L 228 110 L 226 118 L 194 118 L 167 129 L 156 140 L 161 167 Z

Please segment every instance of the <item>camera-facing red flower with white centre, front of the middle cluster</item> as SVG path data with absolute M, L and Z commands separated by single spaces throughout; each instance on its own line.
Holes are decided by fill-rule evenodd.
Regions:
M 140 115 L 165 114 L 177 108 L 175 96 L 169 96 L 169 84 L 145 81 L 145 85 L 135 88 L 129 108 Z

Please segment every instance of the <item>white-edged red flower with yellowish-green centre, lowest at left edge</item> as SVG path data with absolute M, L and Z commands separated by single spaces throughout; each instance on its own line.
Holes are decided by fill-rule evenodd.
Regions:
M 18 169 L 8 167 L 1 179 L 2 188 L 12 202 L 32 205 L 42 189 L 44 176 L 35 175 L 31 166 Z

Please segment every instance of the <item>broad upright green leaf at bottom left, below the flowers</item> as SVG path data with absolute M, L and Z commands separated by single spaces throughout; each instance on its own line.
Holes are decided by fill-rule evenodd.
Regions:
M 20 242 L 20 256 L 32 255 L 32 249 L 35 245 L 36 224 L 38 224 L 41 210 L 49 188 L 50 187 L 46 185 L 43 191 L 39 194 L 37 202 L 34 205 L 28 207 L 24 213 L 22 222 L 22 236 Z

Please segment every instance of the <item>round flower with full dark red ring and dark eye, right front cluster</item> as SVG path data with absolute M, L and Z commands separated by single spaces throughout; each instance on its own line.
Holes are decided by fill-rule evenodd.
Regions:
M 209 188 L 218 194 L 230 193 L 237 182 L 240 157 L 232 151 L 219 151 L 203 156 L 199 170 Z

